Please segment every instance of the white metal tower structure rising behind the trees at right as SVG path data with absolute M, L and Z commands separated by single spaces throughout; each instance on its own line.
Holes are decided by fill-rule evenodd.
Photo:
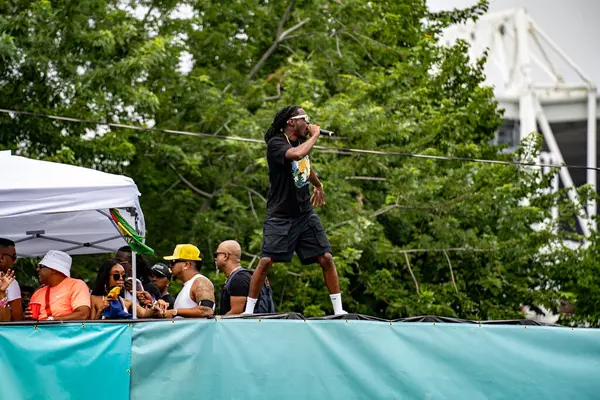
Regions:
M 476 23 L 447 29 L 444 41 L 451 44 L 456 39 L 470 43 L 470 57 L 473 60 L 488 50 L 486 74 L 494 77 L 496 97 L 505 110 L 505 117 L 519 121 L 518 141 L 532 132 L 540 131 L 549 150 L 541 154 L 541 161 L 564 164 L 550 123 L 587 120 L 585 164 L 596 167 L 596 85 L 536 25 L 524 8 L 487 14 Z M 573 79 L 574 76 L 577 79 Z M 562 185 L 569 188 L 571 201 L 579 203 L 569 170 L 561 168 L 559 177 Z M 596 190 L 595 169 L 587 170 L 587 184 Z M 553 186 L 558 190 L 558 182 Z M 558 216 L 556 211 L 553 213 Z M 578 217 L 586 237 L 596 229 L 593 220 L 595 215 L 596 204 L 592 201 L 586 204 L 585 217 Z

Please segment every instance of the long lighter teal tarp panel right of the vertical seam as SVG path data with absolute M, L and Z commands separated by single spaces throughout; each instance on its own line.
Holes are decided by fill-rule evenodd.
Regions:
M 133 331 L 133 399 L 600 397 L 599 330 L 229 320 Z

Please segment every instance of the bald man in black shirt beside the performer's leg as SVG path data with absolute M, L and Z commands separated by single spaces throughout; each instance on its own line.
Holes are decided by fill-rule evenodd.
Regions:
M 252 272 L 240 265 L 242 248 L 235 240 L 227 240 L 215 252 L 217 268 L 225 274 L 227 281 L 221 289 L 219 313 L 241 314 L 250 290 Z

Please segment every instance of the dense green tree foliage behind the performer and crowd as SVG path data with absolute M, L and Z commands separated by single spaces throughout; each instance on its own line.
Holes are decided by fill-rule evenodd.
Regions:
M 322 145 L 525 157 L 490 145 L 502 114 L 482 86 L 485 59 L 469 63 L 464 42 L 437 43 L 443 27 L 485 10 L 482 1 L 431 14 L 424 0 L 5 2 L 0 106 L 261 139 L 280 107 L 299 104 L 339 133 Z M 189 72 L 182 54 L 193 58 Z M 244 264 L 256 263 L 269 188 L 262 145 L 2 115 L 0 147 L 134 178 L 159 255 L 188 242 L 210 255 L 236 239 Z M 563 224 L 580 210 L 564 193 L 545 192 L 550 177 L 537 170 L 319 151 L 312 158 L 349 311 L 517 318 L 522 304 L 556 309 L 569 296 L 581 304 L 580 294 L 598 286 L 589 278 L 593 253 L 556 245 L 580 238 L 548 223 L 551 206 Z M 463 250 L 448 258 L 403 252 L 449 248 Z M 579 269 L 580 259 L 589 269 Z M 91 279 L 97 261 L 80 263 Z M 317 266 L 277 265 L 270 280 L 279 310 L 330 312 Z M 581 307 L 577 322 L 598 320 L 594 304 Z

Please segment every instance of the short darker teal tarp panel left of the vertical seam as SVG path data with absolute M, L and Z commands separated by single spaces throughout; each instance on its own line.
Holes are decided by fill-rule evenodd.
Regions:
M 129 398 L 131 327 L 0 327 L 0 399 Z

